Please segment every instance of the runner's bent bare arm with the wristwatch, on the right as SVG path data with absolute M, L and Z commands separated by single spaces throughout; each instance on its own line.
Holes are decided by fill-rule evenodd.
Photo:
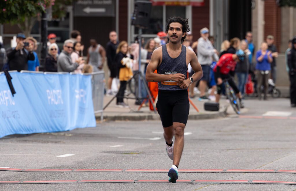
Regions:
M 191 77 L 193 78 L 194 81 L 198 81 L 203 76 L 202 67 L 200 66 L 200 63 L 197 60 L 196 54 L 192 50 L 189 50 L 187 48 L 187 54 L 189 54 L 190 66 L 192 67 L 192 70 L 195 72 Z M 188 78 L 188 79 L 184 80 L 183 82 L 179 83 L 178 86 L 180 88 L 186 89 L 189 87 L 190 84 L 191 84 L 191 81 Z

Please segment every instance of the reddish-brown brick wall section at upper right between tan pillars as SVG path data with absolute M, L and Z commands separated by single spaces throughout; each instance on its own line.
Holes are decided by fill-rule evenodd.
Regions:
M 281 44 L 281 9 L 276 0 L 266 0 L 264 3 L 264 40 L 267 35 L 274 36 L 274 43 L 278 51 Z

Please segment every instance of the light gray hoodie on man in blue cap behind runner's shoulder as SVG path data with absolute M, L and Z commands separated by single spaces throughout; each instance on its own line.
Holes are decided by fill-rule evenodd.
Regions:
M 198 39 L 197 44 L 197 58 L 200 65 L 211 65 L 213 62 L 213 56 L 216 61 L 219 60 L 217 54 L 215 54 L 214 47 L 209 39 L 205 40 L 202 37 Z

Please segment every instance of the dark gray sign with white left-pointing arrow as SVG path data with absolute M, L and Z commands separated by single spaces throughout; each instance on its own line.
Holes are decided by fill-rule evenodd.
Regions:
M 74 1 L 74 16 L 115 17 L 115 0 Z

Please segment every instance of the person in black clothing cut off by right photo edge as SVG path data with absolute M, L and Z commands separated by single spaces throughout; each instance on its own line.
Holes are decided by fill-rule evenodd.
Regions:
M 296 36 L 294 36 L 292 40 L 292 48 L 287 55 L 290 77 L 291 107 L 296 107 Z

